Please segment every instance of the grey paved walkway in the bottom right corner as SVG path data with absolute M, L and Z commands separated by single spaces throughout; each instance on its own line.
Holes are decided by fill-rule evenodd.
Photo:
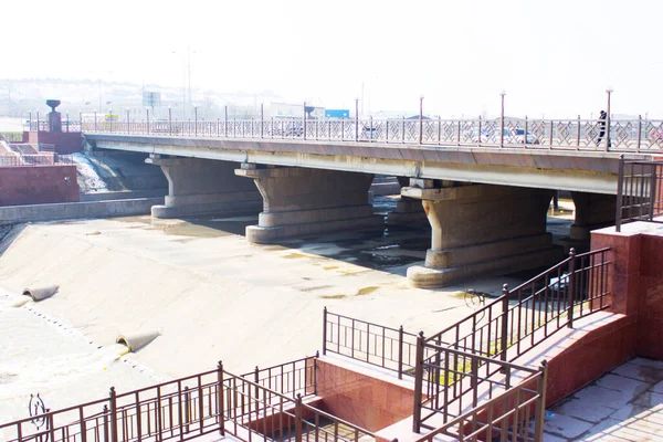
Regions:
M 544 441 L 663 441 L 663 361 L 634 358 L 547 410 Z

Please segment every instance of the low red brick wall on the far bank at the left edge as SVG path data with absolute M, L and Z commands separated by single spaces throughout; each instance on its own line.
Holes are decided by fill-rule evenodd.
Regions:
M 77 201 L 76 166 L 0 167 L 0 206 Z

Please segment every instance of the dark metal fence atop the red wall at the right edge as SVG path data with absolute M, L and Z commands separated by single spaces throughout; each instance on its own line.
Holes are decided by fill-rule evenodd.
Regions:
M 625 161 L 620 159 L 614 225 L 631 221 L 663 222 L 663 160 Z

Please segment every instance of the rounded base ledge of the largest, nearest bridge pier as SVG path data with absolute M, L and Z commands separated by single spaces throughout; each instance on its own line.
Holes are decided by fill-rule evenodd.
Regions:
M 457 267 L 436 269 L 414 265 L 408 269 L 408 280 L 414 287 L 443 287 L 478 275 L 486 277 L 508 273 L 513 270 L 544 267 L 552 262 L 558 262 L 560 255 L 559 248 L 548 248 Z

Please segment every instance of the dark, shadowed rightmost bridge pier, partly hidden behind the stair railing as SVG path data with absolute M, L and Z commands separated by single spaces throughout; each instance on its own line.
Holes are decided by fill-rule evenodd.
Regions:
M 571 198 L 576 206 L 576 220 L 570 231 L 571 240 L 589 243 L 589 232 L 614 225 L 615 196 L 571 192 Z

